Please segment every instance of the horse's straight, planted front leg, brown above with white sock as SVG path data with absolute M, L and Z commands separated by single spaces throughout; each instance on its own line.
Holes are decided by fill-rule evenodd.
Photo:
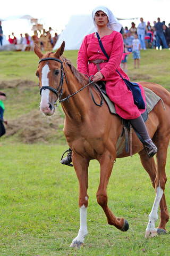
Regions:
M 84 238 L 87 236 L 87 206 L 88 206 L 88 166 L 89 160 L 73 153 L 73 165 L 79 180 L 79 207 L 80 207 L 80 229 L 78 236 L 75 237 L 70 247 L 80 248 Z

